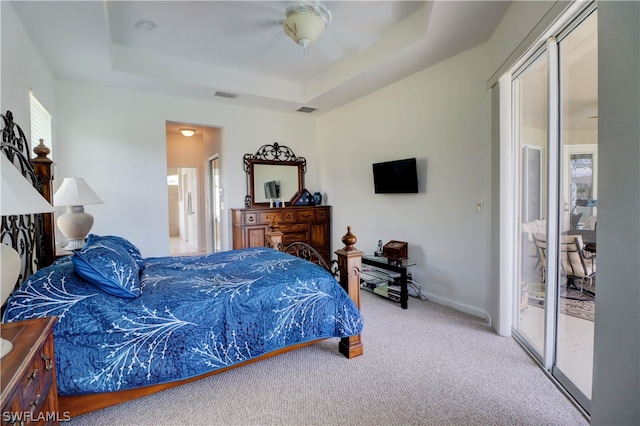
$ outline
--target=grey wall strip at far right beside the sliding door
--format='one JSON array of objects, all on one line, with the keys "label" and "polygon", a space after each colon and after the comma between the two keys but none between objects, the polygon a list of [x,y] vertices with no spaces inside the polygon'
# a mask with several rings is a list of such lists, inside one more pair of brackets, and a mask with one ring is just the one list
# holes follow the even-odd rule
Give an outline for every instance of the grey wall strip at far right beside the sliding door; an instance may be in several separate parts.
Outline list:
[{"label": "grey wall strip at far right beside the sliding door", "polygon": [[598,6],[593,425],[640,424],[640,3]]}]

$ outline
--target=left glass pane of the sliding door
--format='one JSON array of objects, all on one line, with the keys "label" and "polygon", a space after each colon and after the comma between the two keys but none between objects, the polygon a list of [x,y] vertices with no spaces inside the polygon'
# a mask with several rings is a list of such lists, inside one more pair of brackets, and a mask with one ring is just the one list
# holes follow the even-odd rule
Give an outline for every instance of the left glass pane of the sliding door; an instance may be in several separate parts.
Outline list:
[{"label": "left glass pane of the sliding door", "polygon": [[547,160],[545,153],[548,133],[547,99],[548,64],[541,54],[514,79],[516,111],[515,140],[520,158],[519,170],[519,262],[516,268],[515,294],[517,305],[514,323],[523,343],[539,358],[544,353],[545,331],[545,253],[544,235],[547,204]]}]

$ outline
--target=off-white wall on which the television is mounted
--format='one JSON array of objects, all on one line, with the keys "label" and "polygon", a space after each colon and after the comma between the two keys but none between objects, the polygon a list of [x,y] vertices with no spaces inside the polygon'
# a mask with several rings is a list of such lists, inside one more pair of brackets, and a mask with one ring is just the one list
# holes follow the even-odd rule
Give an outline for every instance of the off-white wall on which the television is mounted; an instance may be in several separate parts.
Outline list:
[{"label": "off-white wall on which the television is mounted", "polygon": [[[490,94],[486,45],[318,118],[333,241],[407,241],[414,279],[433,300],[489,316]],[[416,157],[418,194],[374,194],[372,163]],[[476,213],[476,202],[484,212]],[[411,302],[409,303],[409,305]],[[410,307],[409,307],[410,309]]]}]

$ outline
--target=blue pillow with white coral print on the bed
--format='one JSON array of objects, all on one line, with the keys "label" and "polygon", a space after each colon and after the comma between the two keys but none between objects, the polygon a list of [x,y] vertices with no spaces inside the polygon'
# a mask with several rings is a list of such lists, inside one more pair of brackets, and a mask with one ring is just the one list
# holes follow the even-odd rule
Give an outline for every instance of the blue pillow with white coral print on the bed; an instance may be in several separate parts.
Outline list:
[{"label": "blue pillow with white coral print on the bed", "polygon": [[71,260],[76,273],[101,290],[128,299],[140,296],[138,265],[120,244],[89,241]]}]

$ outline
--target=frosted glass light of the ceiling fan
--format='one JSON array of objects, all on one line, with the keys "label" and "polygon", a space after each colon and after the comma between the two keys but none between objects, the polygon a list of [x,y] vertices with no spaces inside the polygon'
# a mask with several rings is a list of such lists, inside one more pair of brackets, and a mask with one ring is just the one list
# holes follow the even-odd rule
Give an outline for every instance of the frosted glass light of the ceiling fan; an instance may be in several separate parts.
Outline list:
[{"label": "frosted glass light of the ceiling fan", "polygon": [[319,3],[299,2],[287,6],[282,28],[293,41],[304,48],[309,56],[309,45],[331,23],[331,12]]}]

